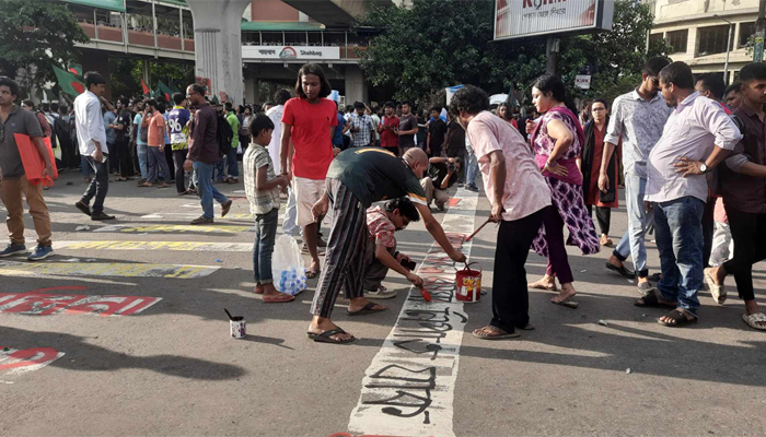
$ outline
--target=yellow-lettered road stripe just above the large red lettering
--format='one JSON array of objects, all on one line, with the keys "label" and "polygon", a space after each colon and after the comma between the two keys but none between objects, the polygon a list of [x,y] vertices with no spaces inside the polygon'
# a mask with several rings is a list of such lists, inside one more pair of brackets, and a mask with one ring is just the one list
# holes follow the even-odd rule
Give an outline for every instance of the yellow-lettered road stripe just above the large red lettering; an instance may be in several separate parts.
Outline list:
[{"label": "yellow-lettered road stripe just above the large red lettering", "polygon": [[30,276],[37,274],[71,276],[176,277],[197,279],[212,274],[218,267],[142,264],[117,262],[14,262],[0,261],[0,274]]}]

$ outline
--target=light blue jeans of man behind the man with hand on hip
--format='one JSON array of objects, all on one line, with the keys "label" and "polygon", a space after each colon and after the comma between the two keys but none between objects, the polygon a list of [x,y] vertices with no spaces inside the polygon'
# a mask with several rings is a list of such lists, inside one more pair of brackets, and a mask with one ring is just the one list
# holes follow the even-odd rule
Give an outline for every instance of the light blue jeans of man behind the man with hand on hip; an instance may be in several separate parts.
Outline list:
[{"label": "light blue jeans of man behind the man with hand on hip", "polygon": [[[616,180],[611,180],[610,182],[617,184]],[[636,175],[625,175],[625,203],[628,211],[628,229],[612,252],[620,261],[625,261],[631,256],[636,275],[639,277],[649,276],[645,238],[647,231],[654,223],[654,214],[651,212],[647,213],[643,205],[646,189],[647,179]]]}]

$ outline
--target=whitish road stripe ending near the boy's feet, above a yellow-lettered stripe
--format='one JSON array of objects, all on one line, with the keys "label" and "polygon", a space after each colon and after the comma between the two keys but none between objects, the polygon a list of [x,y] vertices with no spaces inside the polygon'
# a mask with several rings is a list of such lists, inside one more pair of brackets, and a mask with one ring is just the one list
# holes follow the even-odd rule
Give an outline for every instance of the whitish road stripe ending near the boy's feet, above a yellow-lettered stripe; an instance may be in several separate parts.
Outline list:
[{"label": "whitish road stripe ending near the boy's feet, above a yellow-lettered stripe", "polygon": [[206,241],[54,241],[54,249],[88,250],[178,250],[206,252],[249,252],[252,243],[206,243]]}]

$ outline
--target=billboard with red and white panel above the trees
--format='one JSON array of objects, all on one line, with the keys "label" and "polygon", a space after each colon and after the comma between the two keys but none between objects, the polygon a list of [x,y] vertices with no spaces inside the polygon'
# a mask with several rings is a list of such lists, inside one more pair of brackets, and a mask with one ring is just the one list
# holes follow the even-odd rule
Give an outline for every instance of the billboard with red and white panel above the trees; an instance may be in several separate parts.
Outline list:
[{"label": "billboard with red and white panel above the trees", "polygon": [[495,39],[612,29],[614,0],[496,0]]}]

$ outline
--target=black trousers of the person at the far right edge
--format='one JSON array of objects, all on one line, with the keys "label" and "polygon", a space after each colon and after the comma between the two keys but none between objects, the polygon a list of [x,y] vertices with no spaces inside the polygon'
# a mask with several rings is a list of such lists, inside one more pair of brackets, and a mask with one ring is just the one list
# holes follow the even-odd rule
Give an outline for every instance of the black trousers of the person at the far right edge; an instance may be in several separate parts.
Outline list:
[{"label": "black trousers of the person at the far right edge", "polygon": [[753,300],[753,264],[766,259],[766,214],[742,212],[729,205],[726,209],[734,257],[723,263],[723,270],[734,275],[742,300]]}]

